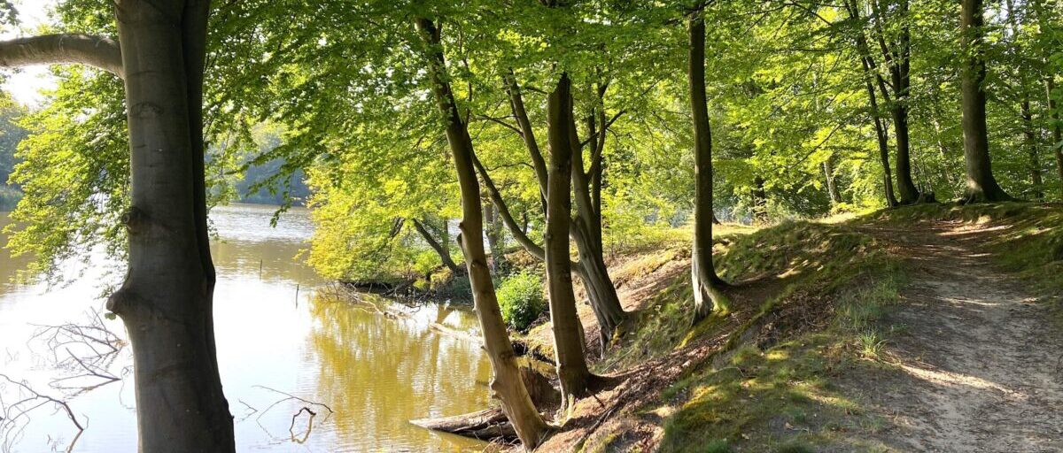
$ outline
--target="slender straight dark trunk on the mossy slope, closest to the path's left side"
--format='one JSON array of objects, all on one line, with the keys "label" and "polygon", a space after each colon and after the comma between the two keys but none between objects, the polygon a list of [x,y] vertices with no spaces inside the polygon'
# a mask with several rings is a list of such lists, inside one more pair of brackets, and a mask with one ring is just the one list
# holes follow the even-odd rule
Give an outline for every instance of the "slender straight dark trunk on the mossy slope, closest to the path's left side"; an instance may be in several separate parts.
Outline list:
[{"label": "slender straight dark trunk on the mossy slope, closest to the path's left side", "polygon": [[721,290],[723,280],[712,263],[712,130],[705,94],[705,16],[694,13],[688,24],[690,48],[687,77],[694,128],[694,245],[691,249],[691,285],[694,291],[694,324],[713,311],[730,310]]}]

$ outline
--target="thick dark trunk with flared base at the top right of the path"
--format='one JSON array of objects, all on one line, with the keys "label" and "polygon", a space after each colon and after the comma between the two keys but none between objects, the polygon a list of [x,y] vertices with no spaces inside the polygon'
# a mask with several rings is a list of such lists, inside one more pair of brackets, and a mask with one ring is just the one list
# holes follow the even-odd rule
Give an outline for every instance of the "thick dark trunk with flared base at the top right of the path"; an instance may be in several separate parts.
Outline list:
[{"label": "thick dark trunk with flared base at the top right of the path", "polygon": [[984,46],[982,42],[982,0],[962,0],[960,41],[964,55],[961,92],[963,98],[963,157],[966,161],[966,203],[1011,199],[993,177],[989,130],[985,125]]}]

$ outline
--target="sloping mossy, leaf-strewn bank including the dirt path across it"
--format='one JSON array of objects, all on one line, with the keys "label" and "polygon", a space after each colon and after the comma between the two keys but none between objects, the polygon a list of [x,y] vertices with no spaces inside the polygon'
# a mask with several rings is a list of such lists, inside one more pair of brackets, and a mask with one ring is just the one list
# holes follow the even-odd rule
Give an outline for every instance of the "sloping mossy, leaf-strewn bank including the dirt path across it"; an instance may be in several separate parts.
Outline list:
[{"label": "sloping mossy, leaf-strewn bank including the dirt path across it", "polygon": [[[924,207],[726,236],[742,309],[693,329],[681,244],[618,260],[640,327],[540,451],[1061,451],[1061,219]],[[526,341],[551,355],[549,326]]]}]

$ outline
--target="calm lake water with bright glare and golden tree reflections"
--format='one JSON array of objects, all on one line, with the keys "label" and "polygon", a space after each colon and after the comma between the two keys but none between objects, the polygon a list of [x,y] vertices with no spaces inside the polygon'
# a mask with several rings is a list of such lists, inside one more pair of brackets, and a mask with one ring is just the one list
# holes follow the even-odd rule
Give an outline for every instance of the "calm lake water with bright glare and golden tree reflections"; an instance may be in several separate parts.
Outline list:
[{"label": "calm lake water with bright glare and golden tree reflections", "polygon": [[[432,433],[410,425],[414,418],[456,415],[488,404],[490,364],[469,339],[438,334],[439,323],[476,328],[468,311],[428,306],[408,318],[391,319],[327,297],[327,283],[298,260],[313,232],[305,210],[293,209],[270,228],[273,208],[234,205],[216,208],[212,222],[218,268],[215,323],[221,380],[236,420],[238,451],[478,451],[475,440]],[[0,213],[0,228],[7,223]],[[0,236],[0,242],[6,238]],[[72,283],[48,288],[13,282],[26,259],[0,250],[0,373],[29,382],[35,390],[61,396],[50,386],[75,374],[54,367],[40,326],[87,324],[102,311],[108,286],[121,281],[120,262],[94,256],[88,263],[65,263]],[[103,320],[124,336],[120,320]],[[58,356],[64,358],[64,348]],[[119,352],[107,369],[121,374],[131,365]],[[92,385],[98,379],[57,385]],[[274,390],[327,404],[292,416],[307,405]],[[23,393],[24,394],[24,393]],[[18,401],[20,391],[0,384],[0,399]],[[272,404],[281,401],[276,405]],[[87,425],[74,452],[135,452],[136,415],[132,377],[69,400]],[[77,429],[51,405],[31,413],[20,429],[0,431],[0,451],[67,451]]]}]

